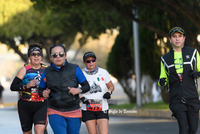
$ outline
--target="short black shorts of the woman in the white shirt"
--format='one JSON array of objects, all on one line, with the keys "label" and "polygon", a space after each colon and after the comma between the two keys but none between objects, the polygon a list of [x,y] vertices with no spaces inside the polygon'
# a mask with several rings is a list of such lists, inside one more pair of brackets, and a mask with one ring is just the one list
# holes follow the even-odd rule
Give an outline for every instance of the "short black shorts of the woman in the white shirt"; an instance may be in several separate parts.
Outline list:
[{"label": "short black shorts of the woman in the white shirt", "polygon": [[86,122],[88,120],[98,120],[98,119],[108,119],[108,110],[105,111],[85,111],[82,110],[82,121]]}]

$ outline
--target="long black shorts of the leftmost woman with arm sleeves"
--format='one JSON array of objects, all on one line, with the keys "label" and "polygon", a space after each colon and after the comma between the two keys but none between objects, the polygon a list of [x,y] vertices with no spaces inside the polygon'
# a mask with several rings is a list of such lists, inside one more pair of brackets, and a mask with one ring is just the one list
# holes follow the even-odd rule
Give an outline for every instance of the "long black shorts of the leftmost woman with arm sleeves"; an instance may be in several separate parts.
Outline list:
[{"label": "long black shorts of the leftmost woman with arm sleeves", "polygon": [[20,99],[18,101],[18,114],[23,132],[30,131],[33,124],[45,125],[47,121],[47,101],[31,102]]}]

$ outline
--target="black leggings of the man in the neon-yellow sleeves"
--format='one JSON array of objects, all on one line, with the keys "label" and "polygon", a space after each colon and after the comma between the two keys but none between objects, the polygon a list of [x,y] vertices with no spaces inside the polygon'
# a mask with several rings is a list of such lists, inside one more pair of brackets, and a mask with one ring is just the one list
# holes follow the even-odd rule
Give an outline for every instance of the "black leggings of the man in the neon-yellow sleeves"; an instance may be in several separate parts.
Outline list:
[{"label": "black leggings of the man in the neon-yellow sleeves", "polygon": [[198,129],[199,112],[180,108],[174,114],[179,125],[179,134],[196,134]]}]

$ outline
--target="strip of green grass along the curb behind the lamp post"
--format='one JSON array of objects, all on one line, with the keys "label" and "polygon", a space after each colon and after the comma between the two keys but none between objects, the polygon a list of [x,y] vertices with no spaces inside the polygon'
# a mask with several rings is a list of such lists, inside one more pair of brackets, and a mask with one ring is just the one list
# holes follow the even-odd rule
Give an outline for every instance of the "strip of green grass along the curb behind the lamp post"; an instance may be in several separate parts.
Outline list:
[{"label": "strip of green grass along the curb behind the lamp post", "polygon": [[[121,105],[110,105],[110,109],[133,109],[136,104],[121,104]],[[141,109],[169,109],[169,105],[165,104],[163,101],[144,104]]]}]

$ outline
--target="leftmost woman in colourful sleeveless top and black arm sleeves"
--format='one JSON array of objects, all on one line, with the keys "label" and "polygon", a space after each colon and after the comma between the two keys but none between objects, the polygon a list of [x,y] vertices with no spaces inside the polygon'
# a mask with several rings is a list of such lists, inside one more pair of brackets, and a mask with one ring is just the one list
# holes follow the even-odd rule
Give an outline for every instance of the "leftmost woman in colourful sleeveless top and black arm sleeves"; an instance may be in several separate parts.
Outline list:
[{"label": "leftmost woman in colourful sleeveless top and black arm sleeves", "polygon": [[42,64],[42,45],[30,44],[28,48],[29,63],[17,73],[11,84],[12,91],[20,91],[18,114],[23,134],[43,134],[47,125],[47,101],[38,95],[38,87],[42,72],[46,65]]}]

